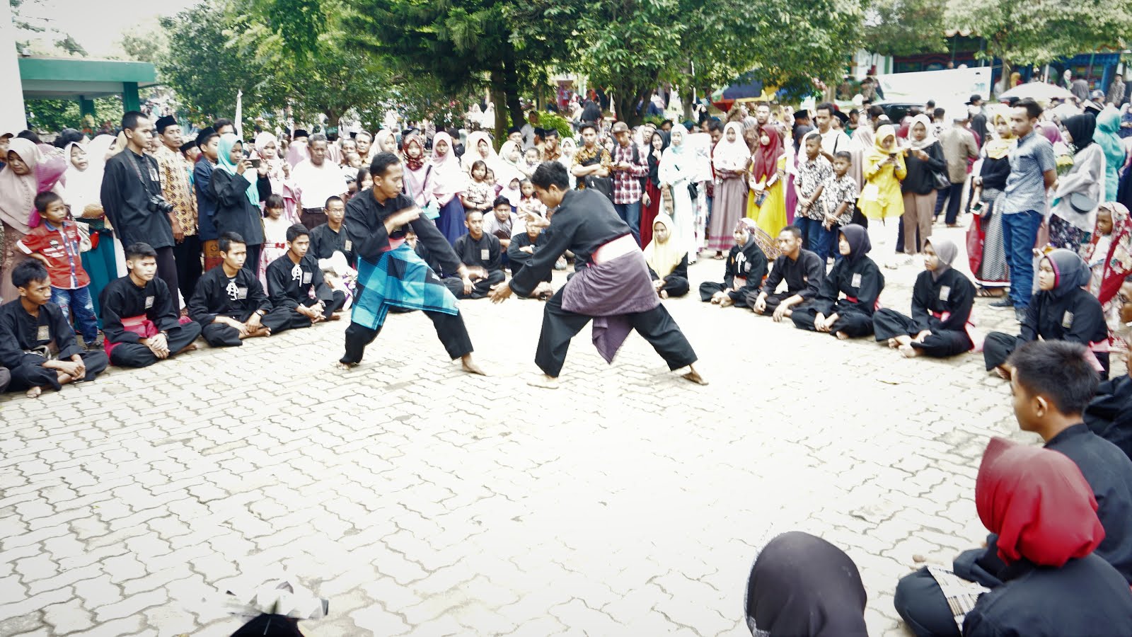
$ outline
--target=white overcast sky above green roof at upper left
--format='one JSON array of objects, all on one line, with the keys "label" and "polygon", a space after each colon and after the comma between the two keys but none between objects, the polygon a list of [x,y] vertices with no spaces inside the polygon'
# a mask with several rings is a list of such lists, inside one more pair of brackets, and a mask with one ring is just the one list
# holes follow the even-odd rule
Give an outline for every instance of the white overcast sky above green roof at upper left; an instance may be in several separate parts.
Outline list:
[{"label": "white overcast sky above green roof at upper left", "polygon": [[[23,14],[48,18],[51,25],[69,33],[93,58],[115,52],[114,42],[122,32],[137,25],[156,25],[157,16],[169,16],[199,0],[27,0]],[[28,20],[35,22],[35,20]]]}]

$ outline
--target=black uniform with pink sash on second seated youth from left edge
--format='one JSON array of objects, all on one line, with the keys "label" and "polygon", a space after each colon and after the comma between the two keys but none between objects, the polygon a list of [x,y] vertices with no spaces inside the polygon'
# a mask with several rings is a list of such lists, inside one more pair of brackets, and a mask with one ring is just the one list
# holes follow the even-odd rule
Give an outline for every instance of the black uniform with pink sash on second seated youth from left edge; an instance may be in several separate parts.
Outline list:
[{"label": "black uniform with pink sash on second seated youth from left edge", "polygon": [[154,278],[138,287],[129,274],[111,281],[98,297],[102,303],[102,332],[106,341],[114,345],[110,350],[110,363],[121,367],[148,367],[161,360],[137,333],[122,325],[123,320],[144,316],[154,326],[165,332],[169,358],[197,340],[200,324],[189,321],[181,323],[173,306],[165,281]]}]

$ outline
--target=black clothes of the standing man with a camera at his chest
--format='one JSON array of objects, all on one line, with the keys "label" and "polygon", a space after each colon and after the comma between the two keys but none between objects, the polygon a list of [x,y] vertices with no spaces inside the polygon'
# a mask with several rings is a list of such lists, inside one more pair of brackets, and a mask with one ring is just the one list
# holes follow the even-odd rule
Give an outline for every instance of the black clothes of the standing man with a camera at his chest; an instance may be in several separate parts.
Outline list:
[{"label": "black clothes of the standing man with a camera at his chest", "polygon": [[[122,240],[122,247],[140,241],[156,250],[157,277],[175,295],[179,288],[173,224],[169,214],[149,210],[149,198],[154,196],[162,196],[162,192],[161,173],[153,155],[138,155],[126,148],[106,160],[101,189],[106,219]],[[173,305],[180,307],[177,298]]]}]

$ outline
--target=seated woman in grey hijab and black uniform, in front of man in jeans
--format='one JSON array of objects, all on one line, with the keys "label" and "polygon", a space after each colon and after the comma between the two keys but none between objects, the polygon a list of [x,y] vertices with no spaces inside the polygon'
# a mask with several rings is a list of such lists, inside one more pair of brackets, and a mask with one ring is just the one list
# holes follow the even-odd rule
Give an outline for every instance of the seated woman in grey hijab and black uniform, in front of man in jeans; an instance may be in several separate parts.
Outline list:
[{"label": "seated woman in grey hijab and black uniform, in front of man in jeans", "polygon": [[[1100,301],[1082,286],[1092,273],[1083,258],[1073,250],[1058,248],[1038,262],[1038,291],[1026,308],[1026,320],[1015,337],[990,332],[983,345],[987,371],[1010,377],[1010,358],[1014,348],[1038,340],[1078,342],[1088,348],[1101,379],[1108,377],[1108,326]],[[1091,348],[1097,348],[1092,350]],[[1104,350],[1104,351],[1101,351]]]}]

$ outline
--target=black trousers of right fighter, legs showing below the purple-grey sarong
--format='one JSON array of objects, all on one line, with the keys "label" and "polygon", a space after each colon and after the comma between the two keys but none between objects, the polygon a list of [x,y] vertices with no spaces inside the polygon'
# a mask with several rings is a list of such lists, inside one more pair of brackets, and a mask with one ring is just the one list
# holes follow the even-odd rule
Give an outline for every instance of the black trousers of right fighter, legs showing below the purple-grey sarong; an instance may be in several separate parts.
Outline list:
[{"label": "black trousers of right fighter, legs showing below the purple-grey sarong", "polygon": [[[593,317],[563,308],[563,291],[558,290],[542,311],[542,332],[534,353],[534,364],[548,376],[558,377],[566,363],[569,341]],[[657,305],[646,312],[628,315],[633,329],[668,363],[669,370],[687,367],[696,362],[696,353],[679,325],[664,308]]]}]

